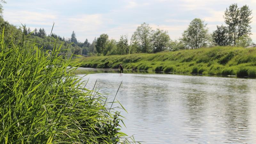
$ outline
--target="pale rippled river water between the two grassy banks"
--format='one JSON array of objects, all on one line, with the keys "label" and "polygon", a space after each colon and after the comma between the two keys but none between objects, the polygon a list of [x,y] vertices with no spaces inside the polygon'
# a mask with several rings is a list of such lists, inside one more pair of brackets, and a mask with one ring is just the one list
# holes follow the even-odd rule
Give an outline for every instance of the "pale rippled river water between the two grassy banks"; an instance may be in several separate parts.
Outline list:
[{"label": "pale rippled river water between the two grassy banks", "polygon": [[[79,75],[84,76],[84,75]],[[87,88],[126,108],[122,132],[145,144],[256,143],[256,79],[97,73]]]}]

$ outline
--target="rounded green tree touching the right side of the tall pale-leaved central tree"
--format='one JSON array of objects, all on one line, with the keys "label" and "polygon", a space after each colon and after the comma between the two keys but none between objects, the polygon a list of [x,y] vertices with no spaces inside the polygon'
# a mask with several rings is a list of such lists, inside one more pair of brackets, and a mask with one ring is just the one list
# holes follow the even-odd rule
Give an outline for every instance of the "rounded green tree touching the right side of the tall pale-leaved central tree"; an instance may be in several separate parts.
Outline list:
[{"label": "rounded green tree touching the right side of the tall pale-leaved central tree", "polygon": [[153,51],[164,51],[170,44],[170,40],[171,39],[167,31],[160,30],[159,28],[157,28],[153,34]]}]

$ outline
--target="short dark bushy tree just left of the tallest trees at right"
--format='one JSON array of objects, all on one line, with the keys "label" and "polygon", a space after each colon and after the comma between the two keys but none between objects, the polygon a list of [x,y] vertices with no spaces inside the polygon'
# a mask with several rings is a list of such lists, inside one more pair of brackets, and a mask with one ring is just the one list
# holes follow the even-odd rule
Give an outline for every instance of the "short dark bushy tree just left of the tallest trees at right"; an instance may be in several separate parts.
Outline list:
[{"label": "short dark bushy tree just left of the tallest trees at right", "polygon": [[215,44],[220,46],[229,45],[230,41],[228,38],[228,28],[221,25],[217,26],[217,30],[212,33],[212,38]]}]

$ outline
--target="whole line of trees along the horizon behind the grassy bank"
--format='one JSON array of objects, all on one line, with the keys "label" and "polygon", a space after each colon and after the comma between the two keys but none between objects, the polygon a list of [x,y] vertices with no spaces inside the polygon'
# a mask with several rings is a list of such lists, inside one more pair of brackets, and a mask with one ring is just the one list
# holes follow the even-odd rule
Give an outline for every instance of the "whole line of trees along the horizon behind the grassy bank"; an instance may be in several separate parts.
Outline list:
[{"label": "whole line of trees along the horizon behind the grassy bank", "polygon": [[[0,7],[1,8],[1,7]],[[0,9],[1,10],[1,9]],[[1,12],[1,11],[0,11]],[[231,4],[224,12],[223,18],[225,25],[217,26],[212,33],[209,32],[204,20],[195,18],[190,22],[188,28],[182,33],[181,38],[172,40],[168,31],[163,29],[153,29],[147,23],[142,23],[136,28],[130,39],[122,35],[120,39],[109,39],[108,34],[101,34],[94,38],[92,43],[85,39],[79,42],[76,33],[73,31],[70,38],[64,38],[57,34],[50,37],[62,41],[64,45],[70,44],[72,53],[77,55],[124,55],[130,53],[156,53],[162,51],[177,51],[181,49],[197,49],[200,47],[212,47],[215,45],[241,46],[246,47],[252,44],[251,26],[252,10],[249,6],[238,7]],[[4,24],[0,23],[3,27]],[[25,29],[25,34],[45,38],[44,28],[39,31],[30,28]]]}]

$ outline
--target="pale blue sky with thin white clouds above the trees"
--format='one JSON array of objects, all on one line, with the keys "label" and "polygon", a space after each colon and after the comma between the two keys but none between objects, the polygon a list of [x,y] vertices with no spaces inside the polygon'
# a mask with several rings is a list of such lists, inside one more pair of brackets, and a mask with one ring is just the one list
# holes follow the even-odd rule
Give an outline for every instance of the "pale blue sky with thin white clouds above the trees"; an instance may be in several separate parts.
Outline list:
[{"label": "pale blue sky with thin white clouds above the trees", "polygon": [[252,10],[252,41],[256,43],[256,0],[5,0],[4,20],[15,26],[26,24],[31,29],[44,28],[70,38],[89,42],[108,34],[119,40],[121,35],[132,37],[140,24],[167,30],[172,40],[179,39],[189,23],[200,18],[209,32],[225,24],[223,14],[230,4],[248,5]]}]

